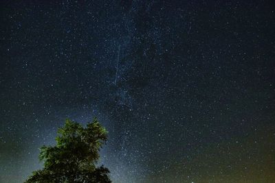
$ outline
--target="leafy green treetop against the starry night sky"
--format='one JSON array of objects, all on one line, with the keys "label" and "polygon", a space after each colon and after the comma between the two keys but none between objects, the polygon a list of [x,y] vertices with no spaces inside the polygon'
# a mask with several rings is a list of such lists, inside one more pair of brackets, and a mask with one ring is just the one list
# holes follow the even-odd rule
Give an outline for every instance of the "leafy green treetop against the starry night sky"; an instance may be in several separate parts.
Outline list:
[{"label": "leafy green treetop against the starry night sky", "polygon": [[34,171],[25,183],[111,182],[109,169],[96,166],[106,141],[107,131],[96,118],[87,127],[66,119],[58,129],[56,146],[41,147],[39,160],[44,168]]}]

